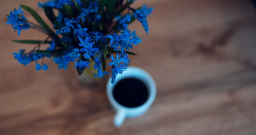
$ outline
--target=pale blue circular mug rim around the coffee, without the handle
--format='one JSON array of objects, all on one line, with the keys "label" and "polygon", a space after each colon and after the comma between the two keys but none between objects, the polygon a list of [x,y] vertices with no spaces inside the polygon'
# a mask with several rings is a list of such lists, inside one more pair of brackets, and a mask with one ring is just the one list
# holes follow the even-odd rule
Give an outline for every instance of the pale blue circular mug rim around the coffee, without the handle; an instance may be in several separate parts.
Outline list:
[{"label": "pale blue circular mug rim around the coffee, without the handle", "polygon": [[[136,72],[138,74],[134,75]],[[130,73],[132,73],[132,74],[130,74]],[[141,79],[138,76],[141,76],[141,78],[143,77],[146,79]],[[138,107],[125,107],[125,106],[119,104],[119,102],[117,102],[115,100],[115,98],[112,94],[113,88],[115,87],[117,82],[122,80],[123,78],[129,78],[129,77],[139,79],[148,88],[148,93],[149,93],[148,99],[146,100],[146,102],[144,102],[142,105],[139,105]],[[108,83],[107,83],[107,95],[108,95],[108,99],[110,100],[112,106],[116,109],[116,111],[118,111],[120,109],[123,109],[125,111],[136,111],[136,110],[140,111],[140,110],[147,109],[148,107],[150,107],[150,105],[155,100],[156,85],[155,85],[155,81],[150,76],[150,74],[148,74],[148,72],[146,72],[145,70],[142,70],[141,68],[129,67],[126,69],[126,71],[123,72],[123,74],[117,75],[117,78],[116,78],[116,81],[114,84],[111,84],[111,77],[109,78]]]}]

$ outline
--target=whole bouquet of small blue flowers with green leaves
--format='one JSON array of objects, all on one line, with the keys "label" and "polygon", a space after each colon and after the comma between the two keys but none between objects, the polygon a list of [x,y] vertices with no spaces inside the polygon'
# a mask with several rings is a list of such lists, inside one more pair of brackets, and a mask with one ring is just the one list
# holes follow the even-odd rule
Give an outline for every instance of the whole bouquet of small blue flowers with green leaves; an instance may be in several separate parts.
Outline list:
[{"label": "whole bouquet of small blue flowers with green leaves", "polygon": [[[136,55],[129,49],[141,42],[135,31],[128,30],[128,25],[134,20],[141,22],[148,33],[147,16],[153,8],[146,5],[132,8],[135,0],[52,0],[38,3],[45,12],[52,28],[30,7],[20,5],[7,15],[7,23],[14,31],[34,28],[47,35],[43,40],[13,40],[17,43],[35,44],[30,50],[24,49],[14,52],[19,63],[27,65],[36,62],[36,70],[47,70],[43,62],[45,57],[52,58],[58,68],[66,70],[68,63],[75,62],[74,68],[80,76],[89,63],[94,61],[95,77],[103,78],[106,65],[112,66],[111,78],[115,82],[117,74],[128,68],[128,55]],[[28,11],[38,22],[29,22],[21,9]],[[57,15],[55,15],[57,14]],[[48,44],[42,50],[40,46]],[[40,60],[41,59],[41,60]],[[39,60],[41,63],[39,63]],[[106,64],[108,62],[108,64]]]}]

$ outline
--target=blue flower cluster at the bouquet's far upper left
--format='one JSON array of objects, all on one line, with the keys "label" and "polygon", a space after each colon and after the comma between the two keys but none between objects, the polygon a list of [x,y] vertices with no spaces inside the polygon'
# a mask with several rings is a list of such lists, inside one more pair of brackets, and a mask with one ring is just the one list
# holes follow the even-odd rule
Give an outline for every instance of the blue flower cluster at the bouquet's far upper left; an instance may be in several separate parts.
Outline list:
[{"label": "blue flower cluster at the bouquet's far upper left", "polygon": [[14,31],[18,30],[18,35],[20,35],[21,30],[27,30],[30,28],[27,19],[24,15],[21,15],[20,13],[24,13],[23,11],[21,11],[21,7],[19,8],[19,10],[15,8],[13,9],[13,11],[10,11],[10,15],[7,15],[6,23],[11,24]]}]

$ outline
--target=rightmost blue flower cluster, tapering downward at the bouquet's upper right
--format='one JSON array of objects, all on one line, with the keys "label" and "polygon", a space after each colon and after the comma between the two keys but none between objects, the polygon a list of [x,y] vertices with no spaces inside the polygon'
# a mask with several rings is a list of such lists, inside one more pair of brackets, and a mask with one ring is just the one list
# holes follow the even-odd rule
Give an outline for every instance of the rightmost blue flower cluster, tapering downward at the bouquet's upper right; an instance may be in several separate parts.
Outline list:
[{"label": "rightmost blue flower cluster, tapering downward at the bouquet's upper right", "polygon": [[141,22],[143,28],[145,29],[146,33],[148,33],[148,21],[146,20],[147,16],[153,11],[153,8],[148,8],[144,5],[141,9],[136,9],[133,16]]}]

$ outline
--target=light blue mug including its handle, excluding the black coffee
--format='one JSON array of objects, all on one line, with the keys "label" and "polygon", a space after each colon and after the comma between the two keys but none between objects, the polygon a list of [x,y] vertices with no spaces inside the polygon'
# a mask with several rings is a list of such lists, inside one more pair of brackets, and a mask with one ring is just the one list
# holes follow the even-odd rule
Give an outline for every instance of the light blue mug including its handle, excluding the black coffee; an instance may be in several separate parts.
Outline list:
[{"label": "light blue mug including its handle, excluding the black coffee", "polygon": [[[113,96],[113,89],[115,85],[122,79],[125,78],[136,78],[142,81],[148,89],[148,99],[144,104],[138,107],[125,107],[120,105]],[[132,85],[132,84],[131,84]],[[123,124],[125,118],[135,118],[143,115],[148,111],[149,107],[152,105],[156,96],[156,85],[153,78],[144,70],[136,67],[129,67],[123,74],[118,74],[114,84],[111,84],[111,78],[108,80],[107,84],[107,95],[112,105],[112,108],[116,111],[114,118],[114,125],[119,127]]]}]

